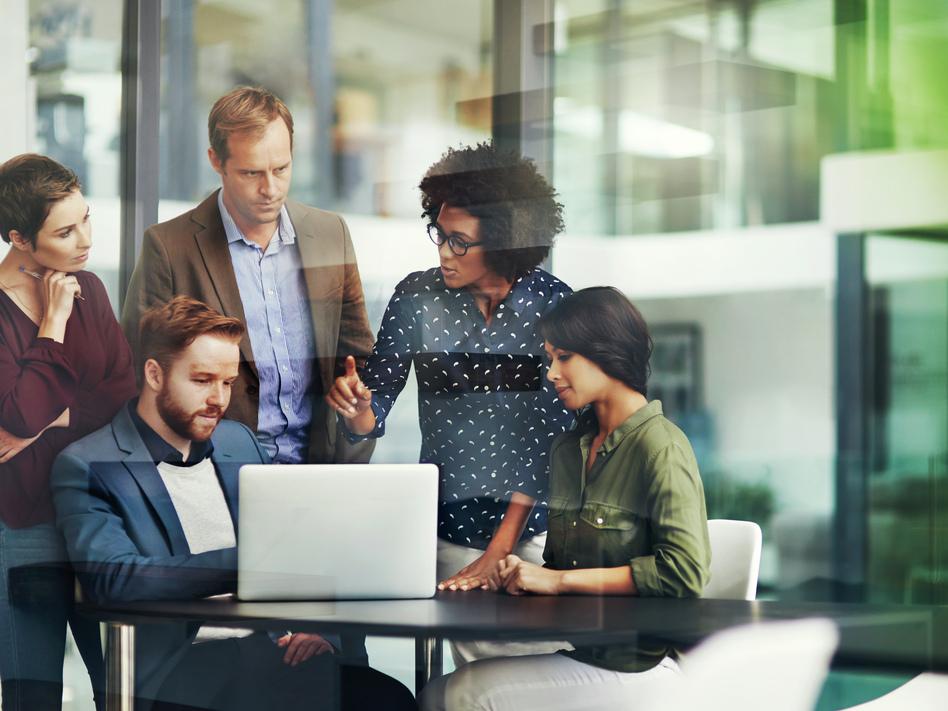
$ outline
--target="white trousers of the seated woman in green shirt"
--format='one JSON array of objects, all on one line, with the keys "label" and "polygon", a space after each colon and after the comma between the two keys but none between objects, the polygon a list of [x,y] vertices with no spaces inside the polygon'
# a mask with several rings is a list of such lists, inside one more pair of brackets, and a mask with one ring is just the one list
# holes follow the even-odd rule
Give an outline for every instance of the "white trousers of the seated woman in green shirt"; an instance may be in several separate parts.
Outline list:
[{"label": "white trousers of the seated woman in green shirt", "polygon": [[420,704],[422,711],[651,711],[636,701],[661,700],[663,689],[680,682],[670,657],[648,671],[624,673],[542,654],[465,664],[428,684]]}]

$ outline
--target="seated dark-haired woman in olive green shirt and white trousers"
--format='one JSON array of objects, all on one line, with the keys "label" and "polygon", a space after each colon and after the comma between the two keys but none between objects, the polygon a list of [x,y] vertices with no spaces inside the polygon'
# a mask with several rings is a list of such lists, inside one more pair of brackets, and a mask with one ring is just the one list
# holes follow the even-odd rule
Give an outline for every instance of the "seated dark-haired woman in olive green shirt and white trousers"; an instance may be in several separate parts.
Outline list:
[{"label": "seated dark-haired woman in olive green shirt and white trousers", "polygon": [[[651,338],[638,310],[609,287],[583,289],[544,316],[547,377],[578,426],[553,443],[543,566],[507,556],[511,595],[697,597],[708,580],[704,490],[687,437],[646,398]],[[487,659],[426,688],[427,709],[637,708],[645,686],[674,683],[675,651],[577,647]]]}]

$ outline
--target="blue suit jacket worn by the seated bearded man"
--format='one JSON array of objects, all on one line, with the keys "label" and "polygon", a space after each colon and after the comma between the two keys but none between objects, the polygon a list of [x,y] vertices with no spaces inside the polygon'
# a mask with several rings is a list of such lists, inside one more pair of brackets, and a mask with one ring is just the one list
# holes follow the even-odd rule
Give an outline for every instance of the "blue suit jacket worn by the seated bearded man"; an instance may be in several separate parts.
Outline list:
[{"label": "blue suit jacket worn by the seated bearded man", "polygon": [[[237,472],[268,461],[244,425],[222,420],[211,457],[237,527]],[[51,475],[56,521],[93,602],[187,600],[236,591],[237,549],[192,554],[161,475],[123,407],[60,453]],[[198,625],[138,628],[135,686],[153,699]]]}]

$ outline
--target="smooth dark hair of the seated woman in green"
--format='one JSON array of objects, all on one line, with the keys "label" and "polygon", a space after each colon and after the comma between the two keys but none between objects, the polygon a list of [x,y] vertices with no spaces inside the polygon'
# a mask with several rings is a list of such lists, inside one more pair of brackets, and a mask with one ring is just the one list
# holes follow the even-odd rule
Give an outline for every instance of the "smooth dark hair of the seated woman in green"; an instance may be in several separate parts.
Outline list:
[{"label": "smooth dark hair of the seated woman in green", "polygon": [[579,353],[609,377],[647,396],[652,337],[639,310],[611,286],[570,294],[540,319],[550,345]]}]

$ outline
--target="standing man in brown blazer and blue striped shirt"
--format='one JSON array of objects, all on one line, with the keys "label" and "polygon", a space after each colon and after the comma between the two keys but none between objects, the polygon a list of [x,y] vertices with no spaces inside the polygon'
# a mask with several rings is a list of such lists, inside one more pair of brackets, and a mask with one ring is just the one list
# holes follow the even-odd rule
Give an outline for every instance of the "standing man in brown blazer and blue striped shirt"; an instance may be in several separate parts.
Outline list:
[{"label": "standing man in brown blazer and blue striped shirt", "polygon": [[247,324],[229,418],[278,462],[368,461],[372,446],[337,436],[321,397],[341,359],[373,345],[348,228],[287,199],[293,119],[273,94],[231,91],[211,110],[208,133],[221,189],[146,230],[122,313],[132,350],[140,356],[146,309],[181,294],[199,299]]}]

